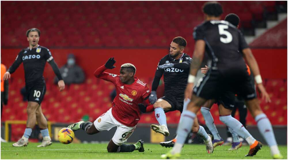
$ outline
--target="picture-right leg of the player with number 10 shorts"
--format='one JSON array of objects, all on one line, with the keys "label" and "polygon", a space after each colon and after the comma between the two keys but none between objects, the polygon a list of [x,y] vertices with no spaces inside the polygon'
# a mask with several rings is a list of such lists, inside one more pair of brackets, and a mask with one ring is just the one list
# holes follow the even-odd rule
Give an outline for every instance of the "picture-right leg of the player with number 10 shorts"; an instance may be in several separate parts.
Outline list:
[{"label": "picture-right leg of the player with number 10 shorts", "polygon": [[52,141],[51,141],[51,138],[49,136],[49,131],[48,131],[48,127],[47,127],[47,120],[42,113],[41,105],[36,110],[36,120],[37,120],[38,126],[40,128],[40,132],[43,136],[43,141],[42,141],[41,145],[39,145],[37,147],[46,147],[46,146],[51,145]]}]

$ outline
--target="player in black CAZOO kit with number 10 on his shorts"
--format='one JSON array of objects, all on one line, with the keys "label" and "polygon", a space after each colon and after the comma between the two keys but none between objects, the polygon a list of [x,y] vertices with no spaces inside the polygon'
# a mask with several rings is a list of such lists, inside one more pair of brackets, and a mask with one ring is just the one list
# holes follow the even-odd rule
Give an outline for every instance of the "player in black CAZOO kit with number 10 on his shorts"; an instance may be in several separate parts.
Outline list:
[{"label": "player in black CAZOO kit with number 10 on his shorts", "polygon": [[37,121],[39,128],[41,128],[40,132],[43,136],[41,145],[38,145],[37,147],[46,147],[52,144],[47,128],[47,120],[44,117],[41,109],[41,102],[46,93],[46,83],[43,77],[46,62],[51,65],[55,75],[60,80],[58,82],[60,91],[65,88],[65,83],[50,50],[38,44],[40,30],[37,28],[31,28],[26,32],[26,36],[27,41],[29,42],[29,47],[22,49],[19,52],[15,62],[4,74],[4,80],[9,79],[11,74],[14,73],[19,65],[23,62],[25,87],[28,95],[28,119],[24,135],[18,142],[14,143],[13,146],[22,147],[28,145],[28,139],[31,136],[32,128],[34,128]]}]

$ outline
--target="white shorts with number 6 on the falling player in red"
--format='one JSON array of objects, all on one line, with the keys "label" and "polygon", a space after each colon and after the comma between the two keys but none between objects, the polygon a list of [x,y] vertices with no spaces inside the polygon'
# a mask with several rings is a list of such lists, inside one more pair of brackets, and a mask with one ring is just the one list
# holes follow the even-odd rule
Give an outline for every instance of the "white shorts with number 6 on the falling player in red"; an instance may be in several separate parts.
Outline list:
[{"label": "white shorts with number 6 on the falling player in red", "polygon": [[113,117],[111,110],[112,108],[98,117],[94,121],[94,126],[98,131],[110,130],[111,128],[117,126],[117,130],[112,138],[112,141],[115,143],[115,145],[121,146],[132,135],[136,126],[128,127],[121,124]]}]

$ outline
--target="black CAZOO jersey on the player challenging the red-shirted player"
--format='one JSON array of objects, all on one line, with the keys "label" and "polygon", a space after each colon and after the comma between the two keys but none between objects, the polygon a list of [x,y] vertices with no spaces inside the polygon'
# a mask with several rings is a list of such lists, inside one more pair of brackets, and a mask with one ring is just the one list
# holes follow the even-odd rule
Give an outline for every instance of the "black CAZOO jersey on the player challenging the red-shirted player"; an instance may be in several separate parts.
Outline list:
[{"label": "black CAZOO jersey on the player challenging the red-shirted player", "polygon": [[[185,69],[180,69],[177,67],[158,69],[164,75],[164,85],[165,91],[164,95],[172,95],[179,98],[184,98],[184,92],[187,85],[187,79],[190,71],[192,58],[183,53],[181,58],[173,59],[170,55],[164,56],[158,66],[163,65],[165,63],[186,63],[187,67]],[[162,76],[162,75],[161,75]]]}]

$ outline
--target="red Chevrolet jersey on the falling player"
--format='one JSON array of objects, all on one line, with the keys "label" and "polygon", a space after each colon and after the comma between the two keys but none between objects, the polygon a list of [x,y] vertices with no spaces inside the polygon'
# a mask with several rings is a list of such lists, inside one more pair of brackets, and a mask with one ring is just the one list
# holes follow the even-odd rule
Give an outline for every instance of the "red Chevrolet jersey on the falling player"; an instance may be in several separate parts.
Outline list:
[{"label": "red Chevrolet jersey on the falling player", "polygon": [[120,81],[119,75],[104,72],[107,68],[99,67],[94,75],[97,78],[112,82],[116,87],[116,97],[112,102],[113,117],[125,126],[133,127],[140,119],[139,103],[150,95],[146,83],[134,77],[134,83],[128,85]]}]

